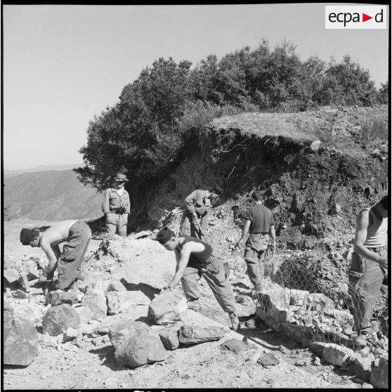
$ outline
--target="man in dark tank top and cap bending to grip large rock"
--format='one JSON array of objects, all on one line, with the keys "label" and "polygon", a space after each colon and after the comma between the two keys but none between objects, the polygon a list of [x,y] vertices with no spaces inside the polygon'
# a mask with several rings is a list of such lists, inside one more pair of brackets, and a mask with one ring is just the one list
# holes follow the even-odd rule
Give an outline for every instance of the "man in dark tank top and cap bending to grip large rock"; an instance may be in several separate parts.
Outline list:
[{"label": "man in dark tank top and cap bending to grip large rock", "polygon": [[200,297],[197,280],[204,277],[219,305],[228,313],[232,329],[237,331],[240,320],[235,315],[233,289],[221,257],[213,251],[211,245],[189,235],[177,236],[167,227],[159,230],[155,240],[176,254],[176,273],[167,289],[173,290],[181,280],[188,306],[191,308],[192,302]]}]

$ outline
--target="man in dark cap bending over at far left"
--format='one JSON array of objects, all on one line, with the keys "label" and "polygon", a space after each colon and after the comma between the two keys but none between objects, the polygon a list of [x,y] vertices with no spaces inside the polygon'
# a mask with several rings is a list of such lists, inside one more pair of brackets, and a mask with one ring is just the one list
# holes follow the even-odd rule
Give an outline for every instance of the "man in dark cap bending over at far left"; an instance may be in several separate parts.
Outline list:
[{"label": "man in dark cap bending over at far left", "polygon": [[[81,221],[63,221],[48,228],[44,233],[36,229],[23,228],[20,242],[31,247],[41,247],[48,257],[48,266],[39,276],[39,282],[46,282],[53,277],[55,268],[58,281],[55,289],[65,290],[80,275],[80,265],[91,240],[89,226]],[[58,247],[65,242],[63,252]]]}]

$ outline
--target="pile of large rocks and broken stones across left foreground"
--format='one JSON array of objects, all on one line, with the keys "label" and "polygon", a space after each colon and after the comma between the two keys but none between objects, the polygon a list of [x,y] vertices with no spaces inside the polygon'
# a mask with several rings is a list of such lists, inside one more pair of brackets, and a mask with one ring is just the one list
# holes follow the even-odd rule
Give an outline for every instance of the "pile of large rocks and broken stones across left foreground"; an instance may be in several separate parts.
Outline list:
[{"label": "pile of large rocks and broken stones across left foreground", "polygon": [[[122,282],[79,283],[67,292],[48,292],[39,300],[25,294],[25,298],[14,298],[14,308],[7,304],[4,310],[6,365],[29,365],[39,354],[39,346],[78,351],[110,342],[116,362],[134,368],[165,360],[167,351],[180,346],[216,341],[228,332],[226,327],[184,323],[188,306],[181,292],[164,290],[155,296],[148,306],[147,322],[123,318],[110,327],[107,316],[126,313],[134,305],[135,293],[127,291]],[[249,346],[238,339],[224,344],[223,349],[234,352]]]}]

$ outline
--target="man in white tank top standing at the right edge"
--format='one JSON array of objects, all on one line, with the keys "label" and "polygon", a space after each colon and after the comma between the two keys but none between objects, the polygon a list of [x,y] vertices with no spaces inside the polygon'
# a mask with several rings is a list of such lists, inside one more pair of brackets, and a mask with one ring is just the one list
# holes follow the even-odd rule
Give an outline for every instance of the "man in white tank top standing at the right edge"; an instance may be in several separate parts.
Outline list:
[{"label": "man in white tank top standing at the right edge", "polygon": [[373,207],[362,209],[356,221],[354,251],[348,272],[354,329],[358,334],[354,339],[356,346],[366,346],[374,303],[380,289],[384,288],[383,282],[387,285],[389,204],[386,195]]}]

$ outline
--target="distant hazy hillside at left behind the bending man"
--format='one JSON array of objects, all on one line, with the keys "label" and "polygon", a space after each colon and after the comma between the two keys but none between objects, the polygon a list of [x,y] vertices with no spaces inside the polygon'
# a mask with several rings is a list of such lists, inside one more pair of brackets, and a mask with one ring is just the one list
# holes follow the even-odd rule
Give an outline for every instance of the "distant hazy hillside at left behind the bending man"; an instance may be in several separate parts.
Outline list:
[{"label": "distant hazy hillside at left behind the bending man", "polygon": [[60,221],[70,218],[98,218],[101,197],[84,186],[71,170],[39,171],[4,178],[4,207],[8,216]]}]

